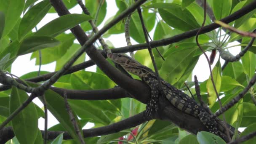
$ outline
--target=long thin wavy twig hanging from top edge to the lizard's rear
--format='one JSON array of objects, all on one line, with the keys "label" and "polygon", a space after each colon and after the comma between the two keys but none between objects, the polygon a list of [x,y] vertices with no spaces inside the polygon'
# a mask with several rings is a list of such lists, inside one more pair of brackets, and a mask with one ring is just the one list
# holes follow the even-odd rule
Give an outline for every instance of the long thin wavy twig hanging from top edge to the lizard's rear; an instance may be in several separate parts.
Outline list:
[{"label": "long thin wavy twig hanging from top edge to the lizard's rear", "polygon": [[[222,104],[221,104],[221,101],[220,101],[220,98],[219,98],[219,93],[216,89],[216,86],[215,86],[215,83],[214,83],[214,80],[213,80],[213,74],[212,74],[212,70],[211,70],[211,64],[210,64],[210,61],[208,59],[208,56],[206,55],[205,51],[203,50],[203,48],[200,46],[199,42],[198,42],[198,36],[199,36],[199,33],[201,31],[201,29],[203,28],[204,24],[205,24],[205,20],[206,20],[206,0],[204,0],[204,19],[203,19],[203,24],[202,26],[200,27],[200,29],[198,30],[197,32],[197,35],[196,35],[196,42],[197,42],[197,45],[198,47],[200,48],[200,50],[203,52],[205,58],[207,59],[207,62],[208,62],[208,66],[209,66],[209,69],[210,69],[210,75],[211,75],[211,82],[213,84],[213,88],[214,88],[214,91],[216,93],[216,96],[217,96],[217,99],[219,101],[219,105],[220,107],[222,108]],[[226,123],[226,118],[225,118],[225,115],[223,115],[223,120],[224,120],[224,123]],[[225,129],[226,129],[226,133],[227,133],[227,137],[229,139],[229,141],[231,141],[231,138],[230,138],[230,134],[229,134],[229,129],[227,128],[227,125],[225,124]]]}]

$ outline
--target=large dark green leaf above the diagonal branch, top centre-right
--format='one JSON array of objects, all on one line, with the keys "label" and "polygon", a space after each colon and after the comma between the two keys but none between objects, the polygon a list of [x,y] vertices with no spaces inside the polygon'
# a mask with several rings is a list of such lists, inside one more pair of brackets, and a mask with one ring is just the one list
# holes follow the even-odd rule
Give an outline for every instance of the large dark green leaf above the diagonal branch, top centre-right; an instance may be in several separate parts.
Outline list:
[{"label": "large dark green leaf above the diagonal branch, top centre-right", "polygon": [[188,31],[200,27],[194,16],[187,10],[182,11],[181,6],[173,3],[155,3],[147,8],[158,8],[163,20],[176,29]]}]

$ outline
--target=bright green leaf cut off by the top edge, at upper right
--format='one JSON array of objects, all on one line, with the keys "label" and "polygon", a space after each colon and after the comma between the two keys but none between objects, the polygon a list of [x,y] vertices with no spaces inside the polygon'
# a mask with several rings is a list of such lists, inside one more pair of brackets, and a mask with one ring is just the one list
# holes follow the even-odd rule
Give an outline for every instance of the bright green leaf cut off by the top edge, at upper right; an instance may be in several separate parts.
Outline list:
[{"label": "bright green leaf cut off by the top edge, at upper right", "polygon": [[232,7],[232,0],[214,0],[213,13],[216,20],[229,16]]}]

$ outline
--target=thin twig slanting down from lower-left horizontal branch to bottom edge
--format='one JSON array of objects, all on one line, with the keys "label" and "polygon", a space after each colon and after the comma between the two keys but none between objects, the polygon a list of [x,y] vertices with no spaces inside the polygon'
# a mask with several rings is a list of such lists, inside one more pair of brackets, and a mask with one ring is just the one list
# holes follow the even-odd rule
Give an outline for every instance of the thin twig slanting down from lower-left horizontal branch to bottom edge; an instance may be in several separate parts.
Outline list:
[{"label": "thin twig slanting down from lower-left horizontal branch to bottom edge", "polygon": [[64,91],[64,101],[65,101],[65,106],[66,106],[66,109],[67,109],[67,112],[69,114],[69,118],[71,120],[71,123],[73,124],[74,128],[75,128],[75,132],[77,133],[77,136],[79,137],[79,140],[80,140],[80,143],[81,144],[85,144],[85,141],[83,139],[83,136],[81,134],[81,131],[80,131],[80,128],[79,126],[77,125],[77,121],[75,120],[75,116],[69,106],[69,103],[67,101],[67,92]]}]

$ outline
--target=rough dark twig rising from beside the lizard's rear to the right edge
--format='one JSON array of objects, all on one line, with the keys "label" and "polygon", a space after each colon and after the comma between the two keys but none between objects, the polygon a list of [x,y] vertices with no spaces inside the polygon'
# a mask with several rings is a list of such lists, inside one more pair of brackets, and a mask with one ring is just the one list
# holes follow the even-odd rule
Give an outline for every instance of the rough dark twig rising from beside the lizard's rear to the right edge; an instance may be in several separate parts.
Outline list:
[{"label": "rough dark twig rising from beside the lizard's rear to the right edge", "polygon": [[218,117],[222,113],[226,112],[230,107],[233,107],[240,99],[245,96],[245,94],[248,92],[248,90],[254,85],[256,82],[256,74],[253,76],[253,78],[250,80],[249,84],[247,87],[244,88],[244,90],[238,94],[234,99],[232,99],[228,104],[226,104],[224,107],[219,109],[218,112],[216,112],[212,117]]}]

